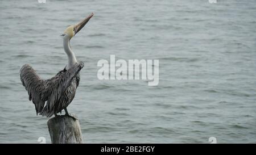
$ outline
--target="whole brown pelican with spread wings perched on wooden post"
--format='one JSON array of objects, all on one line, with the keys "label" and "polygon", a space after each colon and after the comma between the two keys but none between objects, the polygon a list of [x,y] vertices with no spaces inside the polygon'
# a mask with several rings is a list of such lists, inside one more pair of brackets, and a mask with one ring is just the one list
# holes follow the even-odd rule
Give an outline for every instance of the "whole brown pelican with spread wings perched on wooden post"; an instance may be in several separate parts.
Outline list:
[{"label": "whole brown pelican with spread wings perched on wooden post", "polygon": [[75,97],[80,81],[79,72],[84,67],[83,62],[77,62],[69,40],[85,26],[93,15],[93,13],[90,14],[81,22],[69,26],[64,31],[63,46],[68,56],[68,64],[55,77],[42,79],[28,64],[23,65],[20,69],[20,80],[28,91],[28,99],[35,104],[36,115],[50,117],[54,114],[56,116],[64,109],[65,115],[69,116],[67,106]]}]

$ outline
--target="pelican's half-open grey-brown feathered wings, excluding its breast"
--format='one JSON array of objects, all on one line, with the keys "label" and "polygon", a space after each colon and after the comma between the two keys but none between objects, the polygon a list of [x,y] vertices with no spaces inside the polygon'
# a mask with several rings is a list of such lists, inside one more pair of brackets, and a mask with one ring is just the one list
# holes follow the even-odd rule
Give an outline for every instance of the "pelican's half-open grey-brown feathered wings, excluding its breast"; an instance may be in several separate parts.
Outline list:
[{"label": "pelican's half-open grey-brown feathered wings, excluding its breast", "polygon": [[67,71],[59,72],[55,77],[45,80],[40,78],[30,65],[23,65],[20,69],[20,80],[28,91],[29,99],[35,104],[36,114],[48,117],[53,115],[55,103],[58,103],[65,89],[83,67],[83,62],[76,63]]}]

